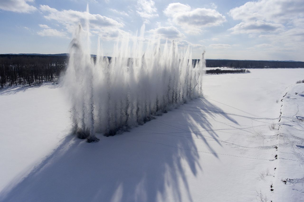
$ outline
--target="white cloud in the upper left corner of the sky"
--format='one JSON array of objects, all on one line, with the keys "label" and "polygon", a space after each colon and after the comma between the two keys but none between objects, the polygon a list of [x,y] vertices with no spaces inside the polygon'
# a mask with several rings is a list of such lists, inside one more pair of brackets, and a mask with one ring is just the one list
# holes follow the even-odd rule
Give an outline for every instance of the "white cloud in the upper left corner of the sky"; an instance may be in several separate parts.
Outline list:
[{"label": "white cloud in the upper left corner of the sky", "polygon": [[37,10],[35,6],[27,2],[34,2],[34,0],[1,0],[0,9],[18,13],[30,13]]}]

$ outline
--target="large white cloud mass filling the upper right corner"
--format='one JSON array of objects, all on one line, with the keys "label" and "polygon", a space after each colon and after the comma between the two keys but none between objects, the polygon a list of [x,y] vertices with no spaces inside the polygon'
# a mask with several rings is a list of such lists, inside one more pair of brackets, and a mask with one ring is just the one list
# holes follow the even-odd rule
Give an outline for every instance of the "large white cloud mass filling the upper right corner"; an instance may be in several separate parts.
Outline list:
[{"label": "large white cloud mass filling the upper right corner", "polygon": [[230,31],[255,37],[261,32],[284,32],[304,25],[303,0],[259,0],[233,8],[229,15],[242,22]]}]

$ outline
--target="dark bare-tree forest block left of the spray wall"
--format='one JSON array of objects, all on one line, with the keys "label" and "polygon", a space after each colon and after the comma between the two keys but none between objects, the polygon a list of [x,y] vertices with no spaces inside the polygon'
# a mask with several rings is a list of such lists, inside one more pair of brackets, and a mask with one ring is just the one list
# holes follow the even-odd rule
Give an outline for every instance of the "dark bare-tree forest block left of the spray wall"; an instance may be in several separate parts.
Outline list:
[{"label": "dark bare-tree forest block left of the spray wall", "polygon": [[0,86],[58,80],[66,62],[67,56],[0,55]]}]

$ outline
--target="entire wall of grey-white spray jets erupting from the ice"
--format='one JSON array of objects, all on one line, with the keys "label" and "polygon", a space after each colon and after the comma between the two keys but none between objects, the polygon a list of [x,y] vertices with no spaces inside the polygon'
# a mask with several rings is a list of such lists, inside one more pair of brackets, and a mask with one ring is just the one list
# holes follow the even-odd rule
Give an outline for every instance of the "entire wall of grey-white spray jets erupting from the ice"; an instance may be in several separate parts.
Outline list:
[{"label": "entire wall of grey-white spray jets erupting from the ice", "polygon": [[193,66],[189,46],[179,54],[174,41],[171,46],[166,42],[164,49],[160,37],[144,43],[143,25],[139,36],[119,36],[110,60],[98,39],[94,63],[89,17],[87,7],[84,29],[79,24],[73,35],[64,78],[73,132],[79,138],[96,142],[96,132],[111,136],[128,131],[202,95],[204,53]]}]

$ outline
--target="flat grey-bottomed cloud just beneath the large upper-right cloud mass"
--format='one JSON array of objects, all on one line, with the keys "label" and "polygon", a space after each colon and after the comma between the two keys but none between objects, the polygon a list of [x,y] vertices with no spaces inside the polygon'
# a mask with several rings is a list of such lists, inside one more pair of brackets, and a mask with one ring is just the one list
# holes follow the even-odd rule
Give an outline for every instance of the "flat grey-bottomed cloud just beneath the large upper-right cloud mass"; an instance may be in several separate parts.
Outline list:
[{"label": "flat grey-bottomed cloud just beneath the large upper-right cloud mass", "polygon": [[264,21],[241,22],[233,28],[228,29],[233,34],[255,34],[261,32],[280,32],[284,25]]}]

